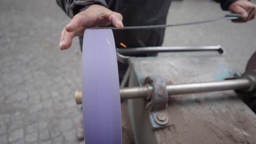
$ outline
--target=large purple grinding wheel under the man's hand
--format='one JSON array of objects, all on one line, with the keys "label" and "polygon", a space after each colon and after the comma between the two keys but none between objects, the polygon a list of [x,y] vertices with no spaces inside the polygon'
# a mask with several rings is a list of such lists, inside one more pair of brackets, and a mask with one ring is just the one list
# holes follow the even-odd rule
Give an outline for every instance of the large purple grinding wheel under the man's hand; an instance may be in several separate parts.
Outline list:
[{"label": "large purple grinding wheel under the man's hand", "polygon": [[83,119],[86,144],[121,144],[118,65],[110,29],[84,33]]}]

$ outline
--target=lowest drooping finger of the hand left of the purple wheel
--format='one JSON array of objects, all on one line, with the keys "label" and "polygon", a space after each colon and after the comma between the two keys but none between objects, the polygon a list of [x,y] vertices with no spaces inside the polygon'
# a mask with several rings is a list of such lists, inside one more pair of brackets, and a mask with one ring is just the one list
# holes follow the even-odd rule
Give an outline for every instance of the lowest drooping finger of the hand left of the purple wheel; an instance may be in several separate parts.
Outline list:
[{"label": "lowest drooping finger of the hand left of the purple wheel", "polygon": [[60,37],[60,44],[59,44],[59,49],[60,50],[66,50],[69,47],[71,47],[72,44],[72,39],[74,38],[75,34],[74,32],[67,32],[66,27],[63,28],[61,32],[61,37]]}]

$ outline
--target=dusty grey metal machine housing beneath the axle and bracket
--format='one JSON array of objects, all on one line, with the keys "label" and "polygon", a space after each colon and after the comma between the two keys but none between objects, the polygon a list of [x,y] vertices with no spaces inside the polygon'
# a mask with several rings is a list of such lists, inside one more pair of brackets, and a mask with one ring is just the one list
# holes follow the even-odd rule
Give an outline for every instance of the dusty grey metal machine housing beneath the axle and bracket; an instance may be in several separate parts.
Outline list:
[{"label": "dusty grey metal machine housing beneath the axle and bracket", "polygon": [[[144,85],[143,79],[147,76],[158,75],[166,85],[175,85],[222,81],[243,72],[232,68],[222,55],[202,52],[131,58],[129,62],[129,87]],[[128,100],[136,143],[256,142],[256,115],[235,91],[171,93],[168,93],[167,105],[155,110],[148,109],[149,102],[145,99]],[[167,121],[166,124],[162,124],[163,121]]]}]

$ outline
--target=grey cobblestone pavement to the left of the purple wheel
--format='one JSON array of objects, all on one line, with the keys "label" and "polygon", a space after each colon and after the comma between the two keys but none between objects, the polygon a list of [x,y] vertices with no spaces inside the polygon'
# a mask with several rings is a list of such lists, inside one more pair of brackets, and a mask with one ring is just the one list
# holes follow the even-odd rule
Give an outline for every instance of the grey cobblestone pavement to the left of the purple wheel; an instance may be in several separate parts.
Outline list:
[{"label": "grey cobblestone pavement to the left of the purple wheel", "polygon": [[57,49],[68,17],[50,0],[3,0],[0,17],[0,143],[78,143],[79,46]]}]

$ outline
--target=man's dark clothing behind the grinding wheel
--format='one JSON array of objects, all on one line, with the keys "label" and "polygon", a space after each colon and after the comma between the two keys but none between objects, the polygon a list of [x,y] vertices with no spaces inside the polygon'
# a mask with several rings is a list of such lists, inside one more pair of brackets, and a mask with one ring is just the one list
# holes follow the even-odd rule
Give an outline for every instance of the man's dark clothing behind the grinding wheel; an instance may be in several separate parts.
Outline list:
[{"label": "man's dark clothing behind the grinding wheel", "polygon": [[[73,17],[75,14],[90,7],[91,4],[100,4],[123,15],[124,26],[164,25],[171,0],[56,0],[57,4]],[[230,4],[236,0],[219,0],[223,10],[228,10]],[[164,40],[165,28],[156,29],[123,29],[114,30],[115,46],[120,43],[127,47],[161,46]],[[83,37],[79,38],[82,46]],[[82,47],[81,47],[82,48]],[[119,80],[123,79],[127,65],[118,63]]]}]

